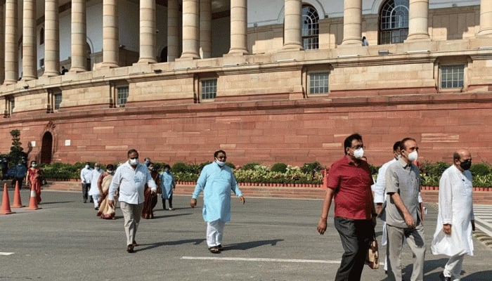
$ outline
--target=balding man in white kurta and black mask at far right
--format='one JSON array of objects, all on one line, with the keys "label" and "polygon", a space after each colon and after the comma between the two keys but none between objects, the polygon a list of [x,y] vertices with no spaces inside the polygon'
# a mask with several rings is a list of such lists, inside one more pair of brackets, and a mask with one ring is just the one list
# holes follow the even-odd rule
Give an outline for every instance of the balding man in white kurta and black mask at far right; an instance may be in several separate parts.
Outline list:
[{"label": "balding man in white kurta and black mask at far right", "polygon": [[472,155],[460,149],[453,155],[453,165],[439,181],[439,214],[432,240],[432,254],[449,256],[444,267],[444,280],[460,280],[465,254],[473,256],[472,231],[475,230],[472,173]]}]

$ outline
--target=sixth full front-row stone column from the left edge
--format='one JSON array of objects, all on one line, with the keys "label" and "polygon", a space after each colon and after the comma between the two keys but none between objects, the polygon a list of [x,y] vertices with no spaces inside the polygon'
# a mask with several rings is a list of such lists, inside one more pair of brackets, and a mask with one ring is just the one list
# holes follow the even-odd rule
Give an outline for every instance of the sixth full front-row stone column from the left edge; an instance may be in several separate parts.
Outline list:
[{"label": "sixth full front-row stone column from the left edge", "polygon": [[138,63],[157,63],[155,0],[140,0],[140,57]]}]

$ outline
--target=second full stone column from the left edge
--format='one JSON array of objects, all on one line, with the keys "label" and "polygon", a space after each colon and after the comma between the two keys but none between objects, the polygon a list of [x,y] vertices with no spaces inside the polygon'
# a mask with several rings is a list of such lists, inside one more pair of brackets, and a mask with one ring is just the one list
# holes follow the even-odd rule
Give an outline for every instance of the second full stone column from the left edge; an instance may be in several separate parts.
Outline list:
[{"label": "second full stone column from the left edge", "polygon": [[36,0],[24,0],[22,8],[22,80],[37,78]]}]

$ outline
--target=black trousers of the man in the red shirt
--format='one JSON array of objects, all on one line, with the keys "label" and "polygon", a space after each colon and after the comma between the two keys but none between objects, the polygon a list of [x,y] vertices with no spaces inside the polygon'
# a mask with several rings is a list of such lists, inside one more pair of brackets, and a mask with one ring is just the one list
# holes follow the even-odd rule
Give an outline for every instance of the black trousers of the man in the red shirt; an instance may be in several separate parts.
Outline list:
[{"label": "black trousers of the man in the red shirt", "polygon": [[373,220],[335,217],[335,228],[344,248],[335,281],[360,281],[365,256],[374,239]]}]

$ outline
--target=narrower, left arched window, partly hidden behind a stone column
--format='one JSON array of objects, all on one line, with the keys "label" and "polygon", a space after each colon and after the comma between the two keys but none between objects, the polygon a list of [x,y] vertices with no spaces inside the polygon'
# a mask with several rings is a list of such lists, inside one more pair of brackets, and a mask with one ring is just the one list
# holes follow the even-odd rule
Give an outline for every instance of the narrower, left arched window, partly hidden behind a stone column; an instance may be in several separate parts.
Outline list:
[{"label": "narrower, left arched window, partly hidden behind a stone column", "polygon": [[318,47],[319,16],[313,6],[302,6],[302,46],[304,50],[313,50]]}]

